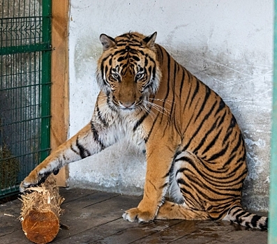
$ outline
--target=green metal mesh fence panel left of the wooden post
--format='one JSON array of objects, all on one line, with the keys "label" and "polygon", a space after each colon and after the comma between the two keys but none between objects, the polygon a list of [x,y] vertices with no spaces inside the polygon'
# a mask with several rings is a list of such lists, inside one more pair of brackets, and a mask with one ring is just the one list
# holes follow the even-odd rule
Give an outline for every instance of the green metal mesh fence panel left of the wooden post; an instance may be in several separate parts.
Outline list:
[{"label": "green metal mesh fence panel left of the wooden post", "polygon": [[0,198],[50,151],[51,0],[0,0]]}]

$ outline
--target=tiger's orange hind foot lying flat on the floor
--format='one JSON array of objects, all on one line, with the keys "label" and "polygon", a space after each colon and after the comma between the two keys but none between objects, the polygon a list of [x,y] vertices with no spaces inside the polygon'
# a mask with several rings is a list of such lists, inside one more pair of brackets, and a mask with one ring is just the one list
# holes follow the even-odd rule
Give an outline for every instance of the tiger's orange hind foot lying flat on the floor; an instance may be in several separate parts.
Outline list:
[{"label": "tiger's orange hind foot lying flat on the floor", "polygon": [[157,220],[209,220],[206,211],[189,209],[184,204],[165,201],[158,210]]}]

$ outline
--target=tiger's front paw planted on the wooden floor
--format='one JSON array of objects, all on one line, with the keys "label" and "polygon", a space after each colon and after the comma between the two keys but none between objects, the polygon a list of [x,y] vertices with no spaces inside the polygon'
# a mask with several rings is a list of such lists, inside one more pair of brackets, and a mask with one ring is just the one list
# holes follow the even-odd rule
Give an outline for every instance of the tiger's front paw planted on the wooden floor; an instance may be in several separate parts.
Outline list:
[{"label": "tiger's front paw planted on the wooden floor", "polygon": [[128,211],[125,211],[122,215],[124,220],[130,222],[149,222],[154,220],[155,213],[149,211],[140,211],[139,208],[130,208]]}]

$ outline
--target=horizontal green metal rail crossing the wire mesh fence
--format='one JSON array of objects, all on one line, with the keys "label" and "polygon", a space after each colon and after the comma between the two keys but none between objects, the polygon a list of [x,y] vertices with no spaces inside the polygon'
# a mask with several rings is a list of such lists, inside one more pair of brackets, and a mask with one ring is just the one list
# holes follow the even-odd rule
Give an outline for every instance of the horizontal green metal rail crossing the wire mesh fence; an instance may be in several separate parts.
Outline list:
[{"label": "horizontal green metal rail crossing the wire mesh fence", "polygon": [[40,52],[41,50],[50,51],[51,47],[49,43],[38,43],[33,45],[25,45],[25,46],[11,46],[11,47],[1,47],[0,55],[6,54],[19,54],[19,53],[27,53],[27,52]]}]

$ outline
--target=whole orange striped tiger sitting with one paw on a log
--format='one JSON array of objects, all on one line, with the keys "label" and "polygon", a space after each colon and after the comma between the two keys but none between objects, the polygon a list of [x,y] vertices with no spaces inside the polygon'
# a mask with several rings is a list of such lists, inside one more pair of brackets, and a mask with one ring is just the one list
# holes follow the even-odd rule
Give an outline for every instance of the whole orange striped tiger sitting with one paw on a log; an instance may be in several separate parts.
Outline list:
[{"label": "whole orange striped tiger sitting with one paw on a log", "polygon": [[124,220],[227,220],[267,229],[267,217],[241,204],[246,148],[230,108],[156,36],[100,35],[100,92],[91,121],[33,169],[20,191],[128,139],[144,150],[147,169],[142,200],[123,213]]}]

